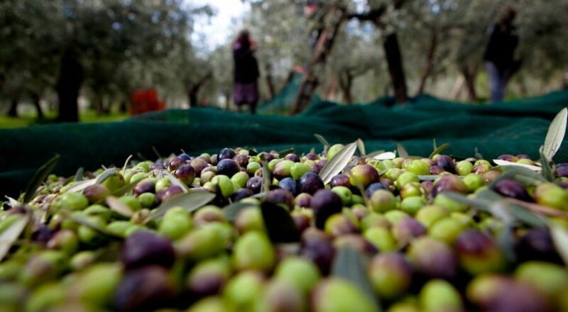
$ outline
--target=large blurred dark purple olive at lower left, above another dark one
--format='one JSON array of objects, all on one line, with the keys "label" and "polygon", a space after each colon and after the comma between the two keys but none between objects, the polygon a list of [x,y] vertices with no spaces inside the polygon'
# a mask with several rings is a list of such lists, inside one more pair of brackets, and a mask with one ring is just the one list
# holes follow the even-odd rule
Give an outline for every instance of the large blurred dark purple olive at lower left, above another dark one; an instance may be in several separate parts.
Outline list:
[{"label": "large blurred dark purple olive at lower left, above another dark one", "polygon": [[170,267],[175,255],[170,240],[148,231],[140,231],[126,239],[121,259],[126,269],[152,264]]}]

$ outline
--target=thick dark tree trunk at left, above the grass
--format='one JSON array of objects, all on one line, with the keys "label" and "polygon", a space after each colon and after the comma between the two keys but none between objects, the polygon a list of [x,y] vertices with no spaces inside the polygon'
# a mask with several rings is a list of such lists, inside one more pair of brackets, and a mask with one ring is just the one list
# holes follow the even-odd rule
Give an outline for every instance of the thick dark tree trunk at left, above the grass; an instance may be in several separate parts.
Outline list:
[{"label": "thick dark tree trunk at left, above the grass", "polygon": [[83,67],[77,56],[70,50],[61,59],[61,69],[57,84],[58,91],[58,122],[79,121],[77,98],[83,83]]}]

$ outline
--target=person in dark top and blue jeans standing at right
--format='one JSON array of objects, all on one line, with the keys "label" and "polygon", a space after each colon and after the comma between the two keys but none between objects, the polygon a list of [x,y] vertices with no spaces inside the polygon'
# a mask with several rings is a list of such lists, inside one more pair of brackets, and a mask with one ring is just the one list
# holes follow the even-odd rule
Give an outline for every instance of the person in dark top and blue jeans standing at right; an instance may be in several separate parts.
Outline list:
[{"label": "person in dark top and blue jeans standing at right", "polygon": [[491,102],[503,101],[507,82],[520,67],[520,62],[514,59],[519,41],[517,29],[513,25],[516,15],[517,11],[508,6],[501,13],[498,22],[489,28],[484,60],[491,84]]}]

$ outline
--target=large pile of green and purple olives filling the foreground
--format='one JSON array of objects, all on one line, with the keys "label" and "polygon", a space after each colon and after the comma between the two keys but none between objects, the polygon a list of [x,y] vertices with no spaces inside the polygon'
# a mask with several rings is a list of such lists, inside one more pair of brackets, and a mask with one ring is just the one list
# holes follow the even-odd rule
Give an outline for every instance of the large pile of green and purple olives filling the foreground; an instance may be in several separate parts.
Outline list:
[{"label": "large pile of green and purple olives filling the foreground", "polygon": [[[551,230],[568,229],[568,165],[541,181],[474,158],[348,155],[324,181],[343,149],[52,174],[0,211],[0,311],[568,311]],[[341,267],[345,249],[361,261]]]}]

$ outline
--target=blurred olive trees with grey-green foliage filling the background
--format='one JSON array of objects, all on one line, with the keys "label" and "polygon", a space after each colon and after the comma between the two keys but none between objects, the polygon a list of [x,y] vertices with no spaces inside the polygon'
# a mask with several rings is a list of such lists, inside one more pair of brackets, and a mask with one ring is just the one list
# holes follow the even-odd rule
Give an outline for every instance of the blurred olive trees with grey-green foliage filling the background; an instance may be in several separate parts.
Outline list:
[{"label": "blurred olive trees with grey-green foliage filling the background", "polygon": [[[243,23],[259,47],[262,98],[271,99],[309,62],[310,33],[329,18],[307,14],[306,0],[244,2],[251,9]],[[386,42],[395,38],[405,94],[483,101],[488,94],[482,60],[487,30],[506,5],[518,9],[517,52],[523,60],[508,97],[559,89],[568,70],[568,0],[318,4],[323,16],[332,8],[345,13],[318,74],[317,94],[324,99],[368,102],[395,94],[386,57]],[[196,21],[215,13],[190,0],[0,1],[0,112],[34,120],[119,117],[132,92],[148,88],[157,89],[168,107],[231,109],[230,40],[210,48],[195,39],[200,38]],[[238,31],[235,27],[234,35]],[[78,100],[69,100],[74,94]]]}]

